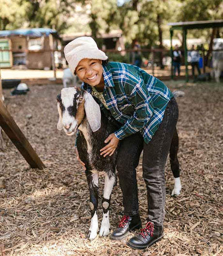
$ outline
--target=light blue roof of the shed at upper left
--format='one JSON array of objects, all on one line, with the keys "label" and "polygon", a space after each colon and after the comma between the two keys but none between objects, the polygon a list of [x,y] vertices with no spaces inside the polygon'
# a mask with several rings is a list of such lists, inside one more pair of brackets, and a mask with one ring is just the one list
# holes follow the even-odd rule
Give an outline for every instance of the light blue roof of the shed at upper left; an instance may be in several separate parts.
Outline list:
[{"label": "light blue roof of the shed at upper left", "polygon": [[14,37],[14,36],[30,36],[41,37],[43,35],[57,34],[56,30],[50,28],[28,28],[16,30],[1,30],[0,37]]}]

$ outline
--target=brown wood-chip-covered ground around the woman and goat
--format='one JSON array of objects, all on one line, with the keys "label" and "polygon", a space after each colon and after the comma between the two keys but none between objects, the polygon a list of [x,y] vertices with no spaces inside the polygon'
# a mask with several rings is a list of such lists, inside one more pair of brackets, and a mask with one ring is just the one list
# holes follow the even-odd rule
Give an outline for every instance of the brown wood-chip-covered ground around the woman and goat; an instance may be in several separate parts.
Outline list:
[{"label": "brown wood-chip-covered ground around the woman and goat", "polygon": [[[171,197],[174,179],[166,166],[165,236],[149,249],[127,247],[127,239],[112,241],[85,236],[90,224],[89,191],[74,153],[75,137],[56,129],[56,95],[60,85],[32,86],[27,95],[10,96],[5,104],[46,169],[31,169],[3,134],[0,150],[1,256],[220,256],[223,255],[223,85],[167,82],[185,91],[177,98],[177,124],[182,191]],[[103,190],[100,176],[100,195]],[[146,192],[138,167],[140,212],[146,222]],[[101,197],[98,216],[102,219]],[[111,229],[122,217],[122,195],[114,187]],[[100,226],[100,225],[99,225]],[[128,238],[133,236],[131,233]]]}]

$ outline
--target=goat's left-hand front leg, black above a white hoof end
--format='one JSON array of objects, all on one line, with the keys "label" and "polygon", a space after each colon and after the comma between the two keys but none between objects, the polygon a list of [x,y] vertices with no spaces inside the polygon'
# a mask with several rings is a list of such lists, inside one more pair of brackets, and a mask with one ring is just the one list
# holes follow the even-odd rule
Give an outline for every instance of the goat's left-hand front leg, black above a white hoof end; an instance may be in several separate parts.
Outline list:
[{"label": "goat's left-hand front leg, black above a white hoof end", "polygon": [[85,171],[90,190],[90,208],[91,208],[91,225],[87,233],[87,238],[93,240],[97,236],[97,204],[98,204],[98,172]]}]

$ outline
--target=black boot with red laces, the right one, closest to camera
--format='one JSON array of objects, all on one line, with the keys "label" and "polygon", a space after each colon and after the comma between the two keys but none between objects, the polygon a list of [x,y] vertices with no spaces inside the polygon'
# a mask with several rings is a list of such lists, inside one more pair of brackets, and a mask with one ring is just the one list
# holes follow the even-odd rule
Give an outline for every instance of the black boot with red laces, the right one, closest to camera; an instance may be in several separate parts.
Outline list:
[{"label": "black boot with red laces, the right one, closest to camera", "polygon": [[163,227],[154,225],[149,221],[141,230],[139,235],[128,240],[127,245],[132,249],[141,250],[158,242],[163,238],[163,236]]}]

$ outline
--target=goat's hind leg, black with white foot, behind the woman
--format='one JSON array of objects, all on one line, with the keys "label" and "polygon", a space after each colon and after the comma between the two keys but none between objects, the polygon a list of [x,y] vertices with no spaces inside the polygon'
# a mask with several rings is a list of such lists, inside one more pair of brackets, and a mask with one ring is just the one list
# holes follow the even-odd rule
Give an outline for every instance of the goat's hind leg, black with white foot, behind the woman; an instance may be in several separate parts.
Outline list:
[{"label": "goat's hind leg, black with white foot, behind the woman", "polygon": [[178,147],[179,147],[179,138],[178,138],[177,130],[175,128],[173,139],[170,146],[170,166],[174,174],[174,180],[175,180],[174,189],[171,193],[172,196],[179,195],[181,190],[180,169],[179,169],[179,162],[177,159]]}]

